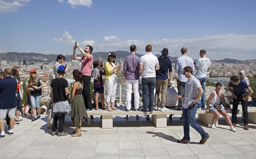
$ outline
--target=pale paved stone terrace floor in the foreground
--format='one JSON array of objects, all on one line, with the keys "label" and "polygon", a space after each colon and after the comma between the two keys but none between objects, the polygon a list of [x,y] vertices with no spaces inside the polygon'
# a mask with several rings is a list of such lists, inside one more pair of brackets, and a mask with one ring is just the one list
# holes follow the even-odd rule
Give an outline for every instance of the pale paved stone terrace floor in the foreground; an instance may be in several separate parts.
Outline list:
[{"label": "pale paved stone terrace floor in the foreground", "polygon": [[[229,114],[231,115],[231,114]],[[116,116],[113,129],[102,129],[101,119],[95,116],[91,125],[83,121],[82,137],[51,136],[47,129],[47,116],[31,122],[21,118],[16,124],[14,136],[0,139],[1,159],[256,159],[256,124],[243,129],[241,113],[237,132],[229,130],[224,118],[219,119],[217,129],[198,122],[210,134],[204,145],[193,128],[190,145],[178,144],[183,137],[180,116],[167,119],[167,128],[156,128],[145,116]],[[7,128],[7,127],[6,127]],[[65,131],[75,129],[70,117],[66,117]]]}]

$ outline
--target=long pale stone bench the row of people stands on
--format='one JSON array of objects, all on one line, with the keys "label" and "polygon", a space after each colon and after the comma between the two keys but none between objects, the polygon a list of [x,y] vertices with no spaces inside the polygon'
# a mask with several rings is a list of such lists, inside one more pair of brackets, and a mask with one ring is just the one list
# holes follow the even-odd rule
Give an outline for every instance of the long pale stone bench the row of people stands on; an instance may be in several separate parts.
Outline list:
[{"label": "long pale stone bench the row of people stands on", "polygon": [[[125,107],[116,107],[118,110],[114,110],[113,112],[107,111],[107,110],[92,110],[87,111],[88,116],[102,116],[102,128],[103,129],[111,129],[113,128],[113,116],[145,116],[145,115],[151,115],[152,116],[152,122],[155,125],[155,127],[167,127],[167,115],[170,114],[182,114],[182,111],[178,110],[172,110],[166,112],[161,112],[159,110],[154,110],[153,112],[142,112],[134,110],[130,110],[130,112],[125,111]],[[142,108],[142,107],[140,107]],[[209,113],[206,114],[204,110],[198,110],[198,121],[201,121],[202,123],[209,126],[212,122],[213,114]],[[69,113],[70,115],[70,113]],[[218,125],[218,121],[216,121],[215,125]],[[52,127],[52,119],[49,119],[49,111],[47,112],[47,127]]]}]

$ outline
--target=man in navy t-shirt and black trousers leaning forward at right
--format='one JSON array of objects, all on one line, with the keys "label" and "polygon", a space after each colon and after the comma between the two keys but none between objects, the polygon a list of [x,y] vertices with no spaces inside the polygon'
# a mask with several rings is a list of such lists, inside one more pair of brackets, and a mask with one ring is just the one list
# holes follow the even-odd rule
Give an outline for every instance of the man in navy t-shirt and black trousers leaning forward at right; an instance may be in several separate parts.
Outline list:
[{"label": "man in navy t-shirt and black trousers leaning forward at right", "polygon": [[236,127],[236,112],[239,102],[241,101],[243,116],[244,116],[244,130],[249,130],[248,127],[248,97],[253,94],[253,90],[243,81],[239,80],[236,75],[230,77],[228,85],[230,93],[233,95],[233,108],[232,108],[232,122],[233,127]]}]

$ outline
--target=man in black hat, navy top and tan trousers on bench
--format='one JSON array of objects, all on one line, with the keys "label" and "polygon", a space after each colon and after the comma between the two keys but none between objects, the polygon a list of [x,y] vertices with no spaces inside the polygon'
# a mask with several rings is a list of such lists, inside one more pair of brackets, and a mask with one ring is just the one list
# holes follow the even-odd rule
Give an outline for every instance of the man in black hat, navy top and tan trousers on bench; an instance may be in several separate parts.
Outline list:
[{"label": "man in black hat, navy top and tan trousers on bench", "polygon": [[[159,66],[160,68],[156,71],[156,78],[157,78],[157,84],[156,84],[156,94],[155,94],[155,108],[154,110],[157,110],[157,101],[159,98],[160,90],[161,90],[161,111],[168,111],[165,107],[165,101],[166,101],[166,90],[167,86],[170,85],[170,81],[172,79],[172,61],[168,58],[168,49],[164,48],[162,52],[162,56],[158,58]],[[168,80],[168,72],[169,69],[169,80]]]}]

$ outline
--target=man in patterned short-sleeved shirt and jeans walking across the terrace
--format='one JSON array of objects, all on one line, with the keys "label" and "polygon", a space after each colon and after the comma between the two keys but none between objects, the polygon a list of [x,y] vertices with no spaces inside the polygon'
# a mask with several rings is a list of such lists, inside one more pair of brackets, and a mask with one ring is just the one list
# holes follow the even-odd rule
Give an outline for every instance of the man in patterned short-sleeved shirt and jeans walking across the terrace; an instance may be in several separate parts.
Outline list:
[{"label": "man in patterned short-sleeved shirt and jeans walking across the terrace", "polygon": [[185,93],[184,95],[177,95],[177,98],[184,98],[184,104],[182,108],[183,114],[183,130],[184,136],[181,140],[178,140],[178,143],[189,144],[190,136],[189,136],[189,126],[193,127],[198,133],[200,133],[202,139],[200,140],[200,144],[204,144],[207,139],[209,139],[210,135],[204,131],[204,129],[195,122],[195,115],[197,111],[197,107],[195,106],[198,99],[203,94],[203,89],[200,84],[200,81],[196,79],[192,74],[192,68],[190,66],[186,66],[183,69],[183,74],[188,78],[188,81],[185,85]]}]

